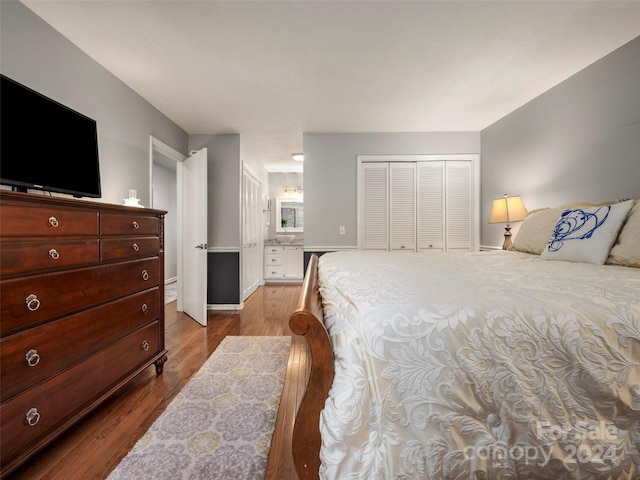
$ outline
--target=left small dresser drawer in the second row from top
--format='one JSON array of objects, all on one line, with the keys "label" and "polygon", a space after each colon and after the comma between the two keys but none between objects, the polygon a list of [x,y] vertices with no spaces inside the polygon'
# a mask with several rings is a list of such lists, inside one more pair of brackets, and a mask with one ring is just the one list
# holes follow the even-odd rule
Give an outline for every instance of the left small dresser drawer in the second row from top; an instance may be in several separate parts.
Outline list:
[{"label": "left small dresser drawer in the second row from top", "polygon": [[46,240],[0,245],[0,274],[55,270],[100,261],[100,243],[91,240]]}]

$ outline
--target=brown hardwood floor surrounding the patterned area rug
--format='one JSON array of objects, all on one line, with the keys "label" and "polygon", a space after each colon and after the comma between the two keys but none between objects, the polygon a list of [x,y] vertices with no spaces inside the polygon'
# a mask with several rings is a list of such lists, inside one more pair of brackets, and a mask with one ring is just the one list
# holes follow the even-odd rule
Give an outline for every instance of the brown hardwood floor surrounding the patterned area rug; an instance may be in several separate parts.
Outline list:
[{"label": "brown hardwood floor surrounding the patterned area rug", "polygon": [[170,303],[165,309],[169,353],[164,373],[156,376],[153,366],[147,368],[7,480],[106,478],[227,335],[293,337],[265,478],[297,480],[291,434],[309,366],[305,340],[288,326],[299,293],[299,285],[262,286],[241,311],[210,311],[207,327],[176,312],[176,302]]}]

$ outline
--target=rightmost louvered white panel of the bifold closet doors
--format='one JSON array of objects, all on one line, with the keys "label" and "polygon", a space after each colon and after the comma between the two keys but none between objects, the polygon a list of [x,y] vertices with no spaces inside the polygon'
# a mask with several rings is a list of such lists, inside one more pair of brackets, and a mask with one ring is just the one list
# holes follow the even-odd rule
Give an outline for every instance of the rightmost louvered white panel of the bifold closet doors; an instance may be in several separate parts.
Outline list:
[{"label": "rightmost louvered white panel of the bifold closet doors", "polygon": [[469,252],[473,244],[471,162],[446,162],[445,182],[447,251]]}]

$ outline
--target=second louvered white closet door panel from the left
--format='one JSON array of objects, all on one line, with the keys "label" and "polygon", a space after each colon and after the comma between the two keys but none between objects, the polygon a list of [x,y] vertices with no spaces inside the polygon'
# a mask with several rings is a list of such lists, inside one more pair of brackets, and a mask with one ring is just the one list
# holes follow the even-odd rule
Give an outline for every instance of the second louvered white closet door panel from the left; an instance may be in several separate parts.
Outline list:
[{"label": "second louvered white closet door panel from the left", "polygon": [[389,171],[391,250],[416,250],[416,164],[391,163]]}]

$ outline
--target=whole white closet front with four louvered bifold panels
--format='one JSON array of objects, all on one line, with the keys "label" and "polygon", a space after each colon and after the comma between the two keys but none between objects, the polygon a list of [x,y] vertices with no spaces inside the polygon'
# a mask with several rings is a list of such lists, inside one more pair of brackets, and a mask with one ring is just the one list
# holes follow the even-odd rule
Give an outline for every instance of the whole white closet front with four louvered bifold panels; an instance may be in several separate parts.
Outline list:
[{"label": "whole white closet front with four louvered bifold panels", "polygon": [[477,155],[358,157],[358,248],[477,250]]}]

